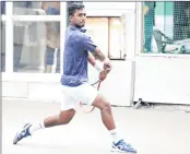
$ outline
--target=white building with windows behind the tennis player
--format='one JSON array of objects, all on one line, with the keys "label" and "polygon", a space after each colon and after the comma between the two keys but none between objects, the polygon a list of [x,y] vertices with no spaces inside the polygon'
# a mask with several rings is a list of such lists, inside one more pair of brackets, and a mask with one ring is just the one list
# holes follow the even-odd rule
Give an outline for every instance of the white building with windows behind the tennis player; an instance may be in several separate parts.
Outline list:
[{"label": "white building with windows behind the tennis player", "polygon": [[[83,3],[87,34],[112,60],[115,69],[102,90],[115,105],[129,106],[140,97],[188,104],[190,82],[183,76],[190,78],[190,2],[152,2],[151,24],[144,16],[151,11],[149,2]],[[60,100],[68,4],[5,2],[1,22],[3,97]],[[152,32],[145,34],[149,28]],[[147,36],[149,52],[144,50]]]}]

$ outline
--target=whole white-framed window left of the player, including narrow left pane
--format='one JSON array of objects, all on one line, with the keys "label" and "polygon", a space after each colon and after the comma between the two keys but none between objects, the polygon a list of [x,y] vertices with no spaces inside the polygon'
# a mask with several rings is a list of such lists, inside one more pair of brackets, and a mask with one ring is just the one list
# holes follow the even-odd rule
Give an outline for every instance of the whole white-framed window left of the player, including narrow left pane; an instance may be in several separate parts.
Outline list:
[{"label": "whole white-framed window left of the player, including narrow left pane", "polygon": [[61,73],[66,11],[59,1],[1,2],[1,71]]}]

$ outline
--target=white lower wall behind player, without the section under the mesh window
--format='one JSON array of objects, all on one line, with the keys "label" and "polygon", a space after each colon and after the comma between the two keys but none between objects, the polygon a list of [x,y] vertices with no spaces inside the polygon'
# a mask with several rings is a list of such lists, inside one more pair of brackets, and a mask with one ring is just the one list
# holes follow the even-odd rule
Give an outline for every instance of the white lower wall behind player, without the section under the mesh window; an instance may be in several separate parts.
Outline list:
[{"label": "white lower wall behind player, without the section under the mesh window", "polygon": [[[130,106],[131,98],[131,62],[114,61],[114,69],[107,80],[102,83],[100,92],[109,98],[112,105]],[[90,82],[97,81],[97,72],[94,68],[90,68]],[[24,74],[23,74],[24,75]],[[62,99],[60,75],[55,75],[54,79],[9,79],[3,76],[2,96],[16,97],[35,100],[50,100],[60,103]],[[54,74],[52,74],[54,75]],[[22,74],[20,74],[22,76]]]}]

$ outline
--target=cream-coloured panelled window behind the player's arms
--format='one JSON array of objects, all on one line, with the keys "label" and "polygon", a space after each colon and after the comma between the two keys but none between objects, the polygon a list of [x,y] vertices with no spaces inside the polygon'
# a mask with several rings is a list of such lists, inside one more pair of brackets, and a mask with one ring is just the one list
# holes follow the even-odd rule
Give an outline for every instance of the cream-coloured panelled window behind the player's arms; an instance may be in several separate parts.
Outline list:
[{"label": "cream-coloured panelled window behind the player's arms", "polygon": [[87,34],[110,59],[123,59],[123,27],[120,17],[87,17]]}]

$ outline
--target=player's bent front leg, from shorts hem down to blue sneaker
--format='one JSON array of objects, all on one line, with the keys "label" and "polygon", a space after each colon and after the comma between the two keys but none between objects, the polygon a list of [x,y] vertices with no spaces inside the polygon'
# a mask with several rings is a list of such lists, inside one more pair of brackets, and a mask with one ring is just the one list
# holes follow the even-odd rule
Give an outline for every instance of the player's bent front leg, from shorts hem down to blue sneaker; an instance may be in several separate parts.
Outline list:
[{"label": "player's bent front leg, from shorts hem down to blue sneaker", "polygon": [[84,85],[83,88],[81,88],[81,93],[84,93],[82,102],[99,108],[103,123],[110,132],[114,141],[112,150],[118,152],[136,153],[136,150],[134,150],[129,143],[123,140],[123,138],[118,134],[109,100],[105,98],[103,94],[98,93],[96,88],[87,84]]}]

